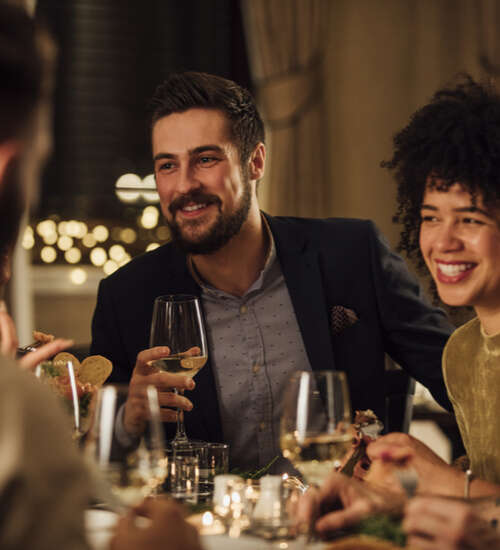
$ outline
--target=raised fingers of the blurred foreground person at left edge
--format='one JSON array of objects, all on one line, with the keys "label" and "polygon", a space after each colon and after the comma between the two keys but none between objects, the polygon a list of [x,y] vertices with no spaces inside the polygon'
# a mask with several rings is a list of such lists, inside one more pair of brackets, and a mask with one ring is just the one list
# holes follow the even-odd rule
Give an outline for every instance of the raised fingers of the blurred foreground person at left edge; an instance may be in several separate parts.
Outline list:
[{"label": "raised fingers of the blurred foreground person at left edge", "polygon": [[[35,351],[23,355],[18,361],[19,366],[25,370],[34,371],[35,367],[43,361],[48,361],[60,351],[64,351],[73,345],[73,340],[56,338],[47,344],[42,344]],[[19,340],[16,326],[12,317],[7,312],[5,302],[0,300],[0,352],[2,355],[15,358]]]}]

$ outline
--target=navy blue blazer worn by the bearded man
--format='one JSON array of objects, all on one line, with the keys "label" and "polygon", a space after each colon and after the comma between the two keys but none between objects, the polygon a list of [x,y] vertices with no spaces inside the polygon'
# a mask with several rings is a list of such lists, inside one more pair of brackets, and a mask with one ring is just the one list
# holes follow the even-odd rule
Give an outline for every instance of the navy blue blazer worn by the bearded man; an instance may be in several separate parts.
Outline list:
[{"label": "navy blue blazer worn by the bearded man", "polygon": [[[422,298],[416,279],[370,221],[270,217],[281,268],[313,369],[347,373],[353,410],[384,417],[387,352],[451,408],[441,371],[441,353],[453,327]],[[128,382],[137,353],[149,347],[156,296],[200,295],[186,255],[168,243],[139,256],[102,280],[92,322],[92,354],[113,362],[111,381]],[[353,310],[358,320],[339,334],[331,330],[333,306]],[[209,353],[210,357],[210,353]],[[210,366],[196,376],[186,413],[190,437],[222,441],[214,376]],[[169,426],[168,435],[173,435]]]}]

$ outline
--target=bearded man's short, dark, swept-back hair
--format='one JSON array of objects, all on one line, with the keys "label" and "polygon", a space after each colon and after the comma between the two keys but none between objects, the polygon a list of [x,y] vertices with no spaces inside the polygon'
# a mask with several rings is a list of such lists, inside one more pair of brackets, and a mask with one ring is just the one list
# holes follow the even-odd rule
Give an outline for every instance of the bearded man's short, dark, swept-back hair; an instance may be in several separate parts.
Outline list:
[{"label": "bearded man's short, dark, swept-back hair", "polygon": [[246,162],[259,142],[264,142],[264,124],[248,90],[235,82],[206,73],[171,74],[156,89],[151,100],[152,126],[172,113],[188,109],[217,109],[229,121],[230,137],[240,162]]}]

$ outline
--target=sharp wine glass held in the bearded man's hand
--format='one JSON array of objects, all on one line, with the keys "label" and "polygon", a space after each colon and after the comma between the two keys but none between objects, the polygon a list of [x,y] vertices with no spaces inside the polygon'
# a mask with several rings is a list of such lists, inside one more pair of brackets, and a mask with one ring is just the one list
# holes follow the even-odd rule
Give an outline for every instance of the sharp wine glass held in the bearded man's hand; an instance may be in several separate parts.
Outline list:
[{"label": "sharp wine glass held in the bearded man's hand", "polygon": [[[207,362],[207,338],[199,299],[190,294],[158,296],[149,343],[151,347],[168,346],[170,349],[170,355],[153,361],[155,367],[191,378],[195,376]],[[187,443],[184,413],[177,409],[177,431],[172,445]]]}]

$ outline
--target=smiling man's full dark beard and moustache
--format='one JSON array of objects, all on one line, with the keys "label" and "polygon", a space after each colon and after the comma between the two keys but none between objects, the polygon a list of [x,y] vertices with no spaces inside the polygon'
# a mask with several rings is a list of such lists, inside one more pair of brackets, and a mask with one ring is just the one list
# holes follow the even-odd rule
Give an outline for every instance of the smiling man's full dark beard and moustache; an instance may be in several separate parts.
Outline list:
[{"label": "smiling man's full dark beard and moustache", "polygon": [[[167,219],[167,224],[172,233],[173,241],[180,246],[184,252],[188,254],[211,254],[220,250],[226,245],[235,235],[237,235],[241,229],[241,226],[248,218],[248,212],[250,211],[250,205],[252,202],[252,193],[250,186],[250,179],[247,175],[242,175],[243,180],[243,195],[241,197],[240,204],[236,211],[230,214],[223,214],[220,210],[221,201],[219,197],[215,195],[208,195],[202,191],[193,191],[177,198],[169,206],[169,211],[172,215],[172,219]],[[199,238],[187,238],[182,233],[181,226],[175,220],[175,213],[180,208],[183,208],[189,203],[197,204],[215,204],[219,208],[219,214],[215,223],[209,228],[204,235]],[[184,224],[191,228],[196,228],[197,225],[202,226],[204,220],[192,220]]]}]

